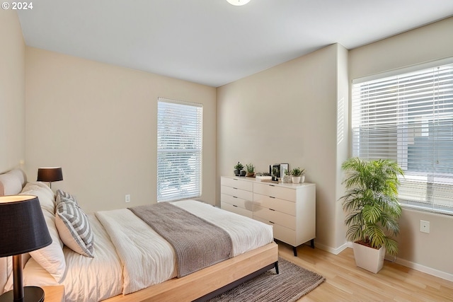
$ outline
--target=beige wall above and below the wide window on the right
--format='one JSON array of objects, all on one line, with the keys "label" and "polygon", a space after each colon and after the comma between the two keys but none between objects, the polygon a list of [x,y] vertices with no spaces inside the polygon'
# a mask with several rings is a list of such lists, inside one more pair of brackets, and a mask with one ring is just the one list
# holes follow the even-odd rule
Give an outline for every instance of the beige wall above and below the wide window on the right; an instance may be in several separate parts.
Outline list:
[{"label": "beige wall above and below the wide window on the right", "polygon": [[[350,79],[453,57],[453,18],[408,31],[349,52]],[[430,233],[420,233],[420,220]],[[398,262],[453,280],[453,217],[403,209]]]}]

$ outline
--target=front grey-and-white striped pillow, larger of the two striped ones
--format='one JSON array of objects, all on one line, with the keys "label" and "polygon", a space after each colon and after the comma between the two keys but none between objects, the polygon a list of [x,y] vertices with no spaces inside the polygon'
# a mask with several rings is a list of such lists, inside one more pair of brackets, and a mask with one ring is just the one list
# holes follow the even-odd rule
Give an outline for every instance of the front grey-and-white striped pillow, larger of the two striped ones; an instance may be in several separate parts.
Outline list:
[{"label": "front grey-and-white striped pillow, larger of the two striped ones", "polygon": [[94,236],[84,211],[74,202],[60,202],[55,214],[55,225],[63,243],[74,252],[93,257]]}]

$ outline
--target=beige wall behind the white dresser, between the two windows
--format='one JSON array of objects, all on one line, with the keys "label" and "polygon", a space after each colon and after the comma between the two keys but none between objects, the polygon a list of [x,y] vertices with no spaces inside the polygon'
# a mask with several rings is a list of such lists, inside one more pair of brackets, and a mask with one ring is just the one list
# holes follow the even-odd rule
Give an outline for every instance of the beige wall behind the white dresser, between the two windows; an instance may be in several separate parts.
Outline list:
[{"label": "beige wall behind the white dresser, between the two windows", "polygon": [[316,183],[316,246],[345,243],[343,219],[336,219],[336,146],[337,102],[348,100],[347,81],[337,88],[347,79],[346,54],[331,45],[217,88],[217,205],[220,176],[233,176],[238,161],[257,172],[272,163],[300,166],[306,182]]}]

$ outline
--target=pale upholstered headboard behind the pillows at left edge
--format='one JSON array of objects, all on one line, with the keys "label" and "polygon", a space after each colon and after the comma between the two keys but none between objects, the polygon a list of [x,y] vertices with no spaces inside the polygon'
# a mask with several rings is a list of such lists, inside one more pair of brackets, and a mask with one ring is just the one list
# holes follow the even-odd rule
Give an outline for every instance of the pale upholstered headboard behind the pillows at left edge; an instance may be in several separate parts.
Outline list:
[{"label": "pale upholstered headboard behind the pillows at left edge", "polygon": [[[26,182],[27,176],[21,169],[0,174],[0,196],[20,193]],[[0,294],[4,293],[6,281],[13,270],[11,259],[12,257],[0,258]]]}]

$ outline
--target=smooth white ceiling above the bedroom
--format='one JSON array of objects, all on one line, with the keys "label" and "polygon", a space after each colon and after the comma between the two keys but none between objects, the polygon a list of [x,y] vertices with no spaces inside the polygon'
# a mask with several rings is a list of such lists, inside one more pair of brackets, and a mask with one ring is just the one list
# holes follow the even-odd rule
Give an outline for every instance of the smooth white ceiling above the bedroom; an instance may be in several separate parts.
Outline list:
[{"label": "smooth white ceiling above the bedroom", "polygon": [[217,87],[453,16],[453,0],[38,0],[18,15],[28,46]]}]

